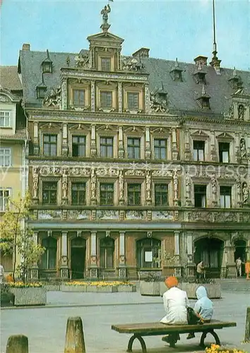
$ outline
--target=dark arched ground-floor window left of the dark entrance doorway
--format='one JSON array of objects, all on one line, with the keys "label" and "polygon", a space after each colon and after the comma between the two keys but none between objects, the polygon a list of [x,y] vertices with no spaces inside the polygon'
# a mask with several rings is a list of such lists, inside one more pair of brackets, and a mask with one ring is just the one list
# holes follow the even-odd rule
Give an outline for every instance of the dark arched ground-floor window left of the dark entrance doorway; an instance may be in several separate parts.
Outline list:
[{"label": "dark arched ground-floor window left of the dark entrance doorway", "polygon": [[42,246],[46,249],[42,254],[41,266],[44,270],[56,268],[57,241],[52,237],[42,239]]}]

